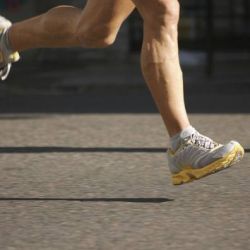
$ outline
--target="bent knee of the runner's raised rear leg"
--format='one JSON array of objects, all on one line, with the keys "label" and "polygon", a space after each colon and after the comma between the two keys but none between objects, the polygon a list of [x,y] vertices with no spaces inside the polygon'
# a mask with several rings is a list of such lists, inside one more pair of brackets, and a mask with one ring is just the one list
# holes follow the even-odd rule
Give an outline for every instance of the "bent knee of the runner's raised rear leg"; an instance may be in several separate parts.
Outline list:
[{"label": "bent knee of the runner's raised rear leg", "polygon": [[116,33],[108,25],[83,25],[76,29],[75,37],[85,48],[105,48],[112,45]]}]

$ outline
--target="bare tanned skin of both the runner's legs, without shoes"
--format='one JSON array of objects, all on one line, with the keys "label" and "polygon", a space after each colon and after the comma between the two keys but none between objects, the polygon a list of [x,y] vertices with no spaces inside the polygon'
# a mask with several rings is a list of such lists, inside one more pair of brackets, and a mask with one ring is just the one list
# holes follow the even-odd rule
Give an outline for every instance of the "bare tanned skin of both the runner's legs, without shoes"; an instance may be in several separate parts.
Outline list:
[{"label": "bare tanned skin of both the runner's legs, without shoes", "polygon": [[177,0],[88,0],[83,10],[59,6],[13,24],[9,40],[13,51],[33,48],[102,48],[111,45],[119,28],[137,8],[144,20],[141,66],[170,136],[190,125],[183,97],[178,52]]}]

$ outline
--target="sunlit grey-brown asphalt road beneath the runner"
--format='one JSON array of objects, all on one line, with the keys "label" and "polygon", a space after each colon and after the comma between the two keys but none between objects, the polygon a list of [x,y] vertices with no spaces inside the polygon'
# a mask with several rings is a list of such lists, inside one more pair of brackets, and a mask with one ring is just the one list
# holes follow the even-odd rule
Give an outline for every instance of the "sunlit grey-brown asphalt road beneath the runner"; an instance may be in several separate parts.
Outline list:
[{"label": "sunlit grey-brown asphalt road beneath the runner", "polygon": [[191,114],[247,153],[174,187],[158,114],[21,111],[0,115],[1,250],[249,249],[248,113]]}]

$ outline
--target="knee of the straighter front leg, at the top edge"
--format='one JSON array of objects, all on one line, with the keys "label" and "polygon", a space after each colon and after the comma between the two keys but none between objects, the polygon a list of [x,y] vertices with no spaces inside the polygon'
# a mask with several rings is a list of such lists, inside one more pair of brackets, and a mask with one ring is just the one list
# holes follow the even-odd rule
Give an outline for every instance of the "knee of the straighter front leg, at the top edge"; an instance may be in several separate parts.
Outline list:
[{"label": "knee of the straighter front leg, at the top edge", "polygon": [[[151,2],[151,1],[150,1]],[[178,0],[156,0],[144,6],[144,22],[159,26],[176,26],[179,22],[180,5]]]}]

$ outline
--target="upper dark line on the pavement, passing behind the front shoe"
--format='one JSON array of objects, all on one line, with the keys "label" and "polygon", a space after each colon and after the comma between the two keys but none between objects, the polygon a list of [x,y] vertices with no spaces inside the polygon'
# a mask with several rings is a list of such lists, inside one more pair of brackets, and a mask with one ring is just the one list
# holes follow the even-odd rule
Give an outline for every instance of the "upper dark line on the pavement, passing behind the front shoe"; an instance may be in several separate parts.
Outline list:
[{"label": "upper dark line on the pavement, passing behind the front shoe", "polygon": [[[0,147],[0,154],[47,153],[166,153],[167,148],[105,148],[105,147]],[[245,149],[250,153],[250,148]]]}]

